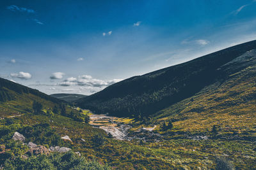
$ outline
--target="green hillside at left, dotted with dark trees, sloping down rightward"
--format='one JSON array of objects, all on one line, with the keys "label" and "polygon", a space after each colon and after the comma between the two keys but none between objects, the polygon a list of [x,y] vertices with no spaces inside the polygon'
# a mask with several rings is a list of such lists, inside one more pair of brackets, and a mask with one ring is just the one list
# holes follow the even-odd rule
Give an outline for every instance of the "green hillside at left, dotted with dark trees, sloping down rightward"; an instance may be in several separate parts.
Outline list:
[{"label": "green hillside at left, dotted with dark trees, sloping down rightward", "polygon": [[19,113],[31,113],[33,112],[33,101],[39,101],[44,107],[48,108],[65,103],[65,101],[48,96],[38,90],[0,78],[1,117]]}]

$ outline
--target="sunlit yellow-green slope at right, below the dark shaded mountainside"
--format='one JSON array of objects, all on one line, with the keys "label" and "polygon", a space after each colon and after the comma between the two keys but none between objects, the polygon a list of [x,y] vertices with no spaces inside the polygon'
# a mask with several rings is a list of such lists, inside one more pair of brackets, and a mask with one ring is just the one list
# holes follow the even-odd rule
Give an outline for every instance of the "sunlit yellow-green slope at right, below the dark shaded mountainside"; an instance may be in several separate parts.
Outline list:
[{"label": "sunlit yellow-green slope at right, below the dark shaded mountainside", "polygon": [[225,78],[204,87],[195,96],[158,111],[152,115],[151,123],[172,120],[179,131],[211,131],[213,125],[218,125],[224,133],[253,134],[256,127],[256,49],[219,69],[226,73]]}]

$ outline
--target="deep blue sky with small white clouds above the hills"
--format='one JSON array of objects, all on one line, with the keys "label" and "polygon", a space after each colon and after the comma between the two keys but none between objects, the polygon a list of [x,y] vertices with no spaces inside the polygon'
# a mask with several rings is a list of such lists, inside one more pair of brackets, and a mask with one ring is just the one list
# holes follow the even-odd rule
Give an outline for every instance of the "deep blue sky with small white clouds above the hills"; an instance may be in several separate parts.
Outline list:
[{"label": "deep blue sky with small white clouds above the hills", "polygon": [[0,1],[0,77],[90,95],[256,39],[256,0]]}]

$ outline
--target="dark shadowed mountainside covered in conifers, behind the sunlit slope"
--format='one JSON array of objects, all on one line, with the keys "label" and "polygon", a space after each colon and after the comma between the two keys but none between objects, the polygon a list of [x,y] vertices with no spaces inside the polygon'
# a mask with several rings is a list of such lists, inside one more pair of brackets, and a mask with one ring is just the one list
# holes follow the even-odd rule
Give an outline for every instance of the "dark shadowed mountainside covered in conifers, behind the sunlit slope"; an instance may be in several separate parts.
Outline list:
[{"label": "dark shadowed mountainside covered in conifers, behind the sunlit slope", "polygon": [[79,99],[77,104],[97,113],[119,117],[152,115],[194,96],[205,87],[227,80],[246,67],[254,67],[254,60],[247,60],[255,48],[256,41],[250,41],[176,66],[134,76]]}]

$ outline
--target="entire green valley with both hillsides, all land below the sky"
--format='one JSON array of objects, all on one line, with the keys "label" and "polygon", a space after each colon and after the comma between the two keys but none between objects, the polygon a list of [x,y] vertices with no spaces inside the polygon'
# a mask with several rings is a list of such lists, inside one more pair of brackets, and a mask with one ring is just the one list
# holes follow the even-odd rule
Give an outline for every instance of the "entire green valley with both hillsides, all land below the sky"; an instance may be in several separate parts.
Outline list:
[{"label": "entire green valley with both hillsides, all land below the sky", "polygon": [[[81,169],[85,160],[99,169],[255,169],[255,49],[256,41],[232,46],[78,100],[0,78],[1,166],[69,155]],[[27,143],[49,156],[33,157]]]}]

